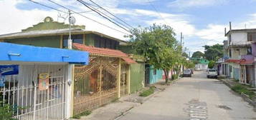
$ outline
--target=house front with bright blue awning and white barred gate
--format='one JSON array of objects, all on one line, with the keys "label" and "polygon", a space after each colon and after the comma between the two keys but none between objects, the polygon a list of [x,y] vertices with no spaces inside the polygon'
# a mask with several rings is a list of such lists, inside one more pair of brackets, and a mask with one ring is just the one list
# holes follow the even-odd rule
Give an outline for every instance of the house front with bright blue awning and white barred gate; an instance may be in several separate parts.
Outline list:
[{"label": "house front with bright blue awning and white barred gate", "polygon": [[69,66],[89,64],[87,52],[4,42],[0,50],[1,108],[14,106],[14,119],[70,118]]}]

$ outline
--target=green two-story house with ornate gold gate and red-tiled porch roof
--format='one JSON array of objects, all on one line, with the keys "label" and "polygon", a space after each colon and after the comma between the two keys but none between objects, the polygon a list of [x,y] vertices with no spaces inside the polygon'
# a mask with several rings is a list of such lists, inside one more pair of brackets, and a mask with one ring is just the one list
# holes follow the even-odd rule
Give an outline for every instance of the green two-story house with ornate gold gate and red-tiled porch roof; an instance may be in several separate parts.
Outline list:
[{"label": "green two-story house with ornate gold gate and red-tiled porch roof", "polygon": [[[134,86],[141,82],[133,76],[141,76],[143,67],[118,50],[120,44],[126,41],[97,31],[87,31],[85,26],[72,25],[71,34],[73,49],[90,54],[89,65],[75,65],[72,71],[73,114],[95,109],[129,94],[131,90],[141,89],[141,86]],[[43,22],[22,32],[0,35],[0,42],[66,49],[68,36],[68,24],[46,17]],[[136,88],[133,89],[131,85]]]}]

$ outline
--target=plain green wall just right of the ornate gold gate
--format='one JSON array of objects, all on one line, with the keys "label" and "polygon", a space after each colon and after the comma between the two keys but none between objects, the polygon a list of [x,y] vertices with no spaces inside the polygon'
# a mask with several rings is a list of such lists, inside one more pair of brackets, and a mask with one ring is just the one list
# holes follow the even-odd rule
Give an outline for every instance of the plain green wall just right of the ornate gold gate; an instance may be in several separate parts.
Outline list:
[{"label": "plain green wall just right of the ornate gold gate", "polygon": [[145,65],[143,63],[131,64],[131,93],[143,88],[144,69]]}]

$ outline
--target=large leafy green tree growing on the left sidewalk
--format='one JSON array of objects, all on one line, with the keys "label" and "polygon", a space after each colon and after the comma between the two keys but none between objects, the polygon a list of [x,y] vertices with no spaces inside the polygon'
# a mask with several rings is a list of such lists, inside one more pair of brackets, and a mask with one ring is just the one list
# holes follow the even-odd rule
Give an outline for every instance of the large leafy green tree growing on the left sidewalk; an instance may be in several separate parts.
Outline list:
[{"label": "large leafy green tree growing on the left sidewalk", "polygon": [[181,46],[175,39],[174,29],[167,25],[156,25],[131,31],[129,36],[135,54],[145,57],[146,62],[163,69],[166,76],[166,84],[169,84],[169,71],[179,66],[181,58]]}]

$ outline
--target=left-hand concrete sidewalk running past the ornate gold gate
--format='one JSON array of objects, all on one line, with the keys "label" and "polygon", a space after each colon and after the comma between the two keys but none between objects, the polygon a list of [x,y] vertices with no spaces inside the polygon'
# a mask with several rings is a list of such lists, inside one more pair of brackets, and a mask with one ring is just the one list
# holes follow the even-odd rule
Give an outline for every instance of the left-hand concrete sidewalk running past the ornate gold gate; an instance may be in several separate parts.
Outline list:
[{"label": "left-hand concrete sidewalk running past the ornate gold gate", "polygon": [[[178,79],[177,79],[178,80]],[[177,81],[175,80],[175,81]],[[175,81],[172,81],[171,84],[174,84]],[[164,91],[168,86],[165,85],[164,80],[158,81],[156,84],[152,84],[156,86],[154,94],[150,96],[138,96],[140,92],[136,92],[135,94],[130,94],[127,96],[121,97],[118,101],[107,104],[105,106],[101,106],[98,109],[93,110],[92,114],[89,116],[81,116],[80,120],[113,120],[120,116],[123,116],[125,113],[130,111],[136,106],[140,106],[143,102],[147,101],[151,97],[158,94],[160,91]],[[72,119],[75,120],[75,119]]]}]

